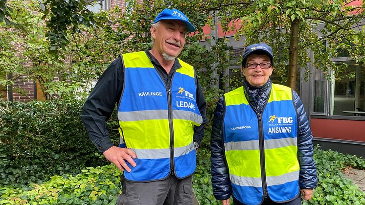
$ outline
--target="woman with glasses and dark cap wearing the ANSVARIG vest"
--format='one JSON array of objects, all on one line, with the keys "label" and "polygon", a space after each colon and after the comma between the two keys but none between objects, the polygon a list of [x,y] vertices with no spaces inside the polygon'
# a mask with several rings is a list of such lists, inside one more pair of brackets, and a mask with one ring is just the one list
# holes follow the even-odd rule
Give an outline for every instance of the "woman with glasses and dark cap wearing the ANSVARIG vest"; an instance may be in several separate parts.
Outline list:
[{"label": "woman with glasses and dark cap wearing the ANSVARIG vest", "polygon": [[301,205],[317,186],[312,132],[292,89],[271,83],[270,46],[247,46],[244,85],[224,94],[211,134],[213,194],[223,205]]}]

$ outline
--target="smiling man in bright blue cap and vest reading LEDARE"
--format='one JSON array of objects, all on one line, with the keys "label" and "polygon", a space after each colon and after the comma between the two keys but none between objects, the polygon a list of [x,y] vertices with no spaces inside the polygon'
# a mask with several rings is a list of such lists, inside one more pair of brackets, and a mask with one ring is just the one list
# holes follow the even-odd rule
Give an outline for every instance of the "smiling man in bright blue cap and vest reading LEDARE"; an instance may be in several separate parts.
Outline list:
[{"label": "smiling man in bright blue cap and vest reading LEDARE", "polygon": [[[181,11],[164,9],[150,31],[152,49],[114,60],[81,117],[97,149],[125,170],[118,204],[192,205],[206,103],[194,68],[177,56],[195,27]],[[119,147],[106,124],[116,103]]]}]

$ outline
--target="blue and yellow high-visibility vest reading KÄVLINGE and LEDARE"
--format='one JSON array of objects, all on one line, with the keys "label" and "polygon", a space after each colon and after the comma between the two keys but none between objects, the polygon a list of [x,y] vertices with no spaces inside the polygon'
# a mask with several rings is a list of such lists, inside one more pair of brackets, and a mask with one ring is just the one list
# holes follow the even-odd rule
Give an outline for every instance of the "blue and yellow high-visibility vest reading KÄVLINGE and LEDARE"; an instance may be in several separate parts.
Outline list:
[{"label": "blue and yellow high-visibility vest reading K\u00c4VLINGE and LEDARE", "polygon": [[[196,104],[194,68],[181,61],[166,87],[144,51],[122,55],[124,87],[118,106],[119,133],[134,151],[137,166],[127,180],[157,181],[171,171],[181,179],[196,168],[194,126],[202,122]],[[113,89],[113,88],[111,88]]]}]

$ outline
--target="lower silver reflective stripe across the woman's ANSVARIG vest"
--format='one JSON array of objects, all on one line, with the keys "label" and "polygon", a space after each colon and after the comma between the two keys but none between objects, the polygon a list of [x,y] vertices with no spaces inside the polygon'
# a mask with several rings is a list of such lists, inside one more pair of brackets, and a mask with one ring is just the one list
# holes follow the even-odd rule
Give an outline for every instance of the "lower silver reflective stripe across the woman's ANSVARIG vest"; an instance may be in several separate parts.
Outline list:
[{"label": "lower silver reflective stripe across the woman's ANSVARIG vest", "polygon": [[[262,187],[261,177],[239,177],[233,174],[229,174],[229,178],[232,183],[240,186]],[[297,181],[298,179],[299,171],[294,171],[280,176],[266,177],[266,183],[268,186],[274,186],[287,182]]]}]

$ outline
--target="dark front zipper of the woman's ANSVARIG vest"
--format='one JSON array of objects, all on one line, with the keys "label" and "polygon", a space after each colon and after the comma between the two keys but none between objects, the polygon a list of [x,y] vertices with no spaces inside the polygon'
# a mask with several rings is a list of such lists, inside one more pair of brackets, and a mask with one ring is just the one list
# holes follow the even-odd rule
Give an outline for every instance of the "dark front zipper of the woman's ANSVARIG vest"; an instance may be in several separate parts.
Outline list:
[{"label": "dark front zipper of the woman's ANSVARIG vest", "polygon": [[261,181],[262,189],[264,191],[264,198],[268,197],[267,184],[266,184],[266,170],[265,170],[265,147],[264,147],[264,133],[262,127],[262,117],[261,113],[257,113],[258,118],[258,130],[259,130],[259,148],[260,148],[260,166],[261,166]]}]

